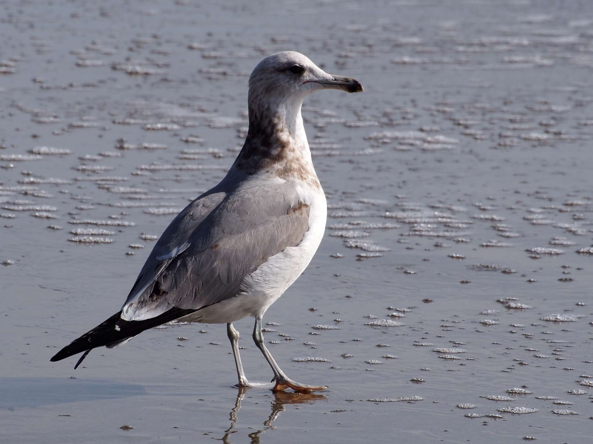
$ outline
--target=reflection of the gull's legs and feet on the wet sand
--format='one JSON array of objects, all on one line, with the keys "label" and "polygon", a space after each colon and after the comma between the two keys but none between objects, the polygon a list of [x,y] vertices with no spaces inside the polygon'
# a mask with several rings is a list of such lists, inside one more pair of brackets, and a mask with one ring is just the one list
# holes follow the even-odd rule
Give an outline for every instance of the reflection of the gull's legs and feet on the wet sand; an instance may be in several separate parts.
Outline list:
[{"label": "reflection of the gull's legs and feet on the wet sand", "polygon": [[[237,393],[237,400],[235,401],[235,406],[231,409],[231,413],[229,414],[229,420],[231,421],[231,426],[225,430],[224,436],[222,437],[222,442],[224,444],[232,444],[231,435],[233,433],[237,433],[238,430],[235,430],[235,427],[238,423],[238,413],[241,409],[241,401],[247,394],[248,388],[240,387]],[[278,418],[280,413],[286,408],[284,407],[285,404],[305,404],[305,403],[313,403],[317,400],[326,399],[324,395],[318,395],[314,393],[295,393],[295,392],[276,392],[273,394],[274,399],[272,401],[272,413],[267,417],[267,419],[263,422],[263,428],[257,430],[256,432],[250,433],[248,436],[251,439],[251,444],[260,444],[261,442],[261,435],[262,433],[266,432],[269,429],[275,429],[276,427],[272,425],[272,423]]]}]

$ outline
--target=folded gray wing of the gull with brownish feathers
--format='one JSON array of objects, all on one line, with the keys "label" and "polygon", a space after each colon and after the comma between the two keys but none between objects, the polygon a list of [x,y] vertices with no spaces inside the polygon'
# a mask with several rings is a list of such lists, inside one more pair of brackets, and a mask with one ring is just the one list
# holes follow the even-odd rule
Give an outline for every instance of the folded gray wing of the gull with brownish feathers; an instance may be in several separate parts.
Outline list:
[{"label": "folded gray wing of the gull with brownish feathers", "polygon": [[263,185],[200,197],[177,215],[146,260],[122,318],[199,310],[234,297],[245,276],[300,243],[308,205],[291,184]]}]

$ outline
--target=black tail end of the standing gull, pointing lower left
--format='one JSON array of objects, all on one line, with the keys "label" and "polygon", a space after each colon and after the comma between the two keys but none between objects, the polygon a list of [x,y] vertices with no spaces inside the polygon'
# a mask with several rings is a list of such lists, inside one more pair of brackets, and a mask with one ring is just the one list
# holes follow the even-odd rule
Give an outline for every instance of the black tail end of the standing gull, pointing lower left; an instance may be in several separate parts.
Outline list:
[{"label": "black tail end of the standing gull, pointing lower left", "polygon": [[145,319],[142,321],[126,321],[122,319],[122,312],[114,314],[109,319],[103,321],[93,330],[83,334],[78,339],[72,341],[62,350],[56,353],[50,361],[61,361],[69,358],[69,356],[76,355],[76,353],[85,352],[76,363],[78,367],[82,360],[87,357],[88,353],[97,347],[107,346],[113,348],[117,345],[125,343],[132,339],[136,334],[144,332],[144,330],[152,327],[160,326],[161,324],[173,321],[186,314],[192,313],[195,310],[183,310],[181,308],[171,308],[159,316]]}]

